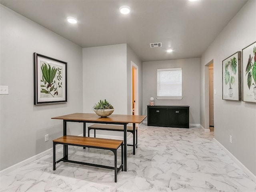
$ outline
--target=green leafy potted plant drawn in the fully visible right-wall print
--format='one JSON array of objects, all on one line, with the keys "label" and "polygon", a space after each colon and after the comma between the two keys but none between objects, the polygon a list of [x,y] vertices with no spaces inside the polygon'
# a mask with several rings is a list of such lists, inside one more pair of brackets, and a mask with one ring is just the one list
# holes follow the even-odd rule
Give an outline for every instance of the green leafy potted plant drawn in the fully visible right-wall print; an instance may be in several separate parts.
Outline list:
[{"label": "green leafy potted plant drawn in the fully visible right-wall print", "polygon": [[235,57],[231,58],[226,64],[225,64],[225,74],[224,74],[224,80],[225,84],[229,83],[229,89],[228,89],[228,96],[233,96],[233,88],[232,85],[235,82],[235,77],[232,74],[236,74],[236,66],[237,66],[237,60]]}]

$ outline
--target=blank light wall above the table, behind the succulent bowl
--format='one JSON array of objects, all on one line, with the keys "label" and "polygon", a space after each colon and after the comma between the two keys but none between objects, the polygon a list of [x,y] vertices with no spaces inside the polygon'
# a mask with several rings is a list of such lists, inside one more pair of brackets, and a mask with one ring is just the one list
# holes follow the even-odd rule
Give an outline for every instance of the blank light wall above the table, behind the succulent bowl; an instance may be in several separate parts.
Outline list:
[{"label": "blank light wall above the table, behind the succulent bowl", "polygon": [[84,113],[106,99],[113,114],[127,114],[126,62],[126,44],[83,48]]}]

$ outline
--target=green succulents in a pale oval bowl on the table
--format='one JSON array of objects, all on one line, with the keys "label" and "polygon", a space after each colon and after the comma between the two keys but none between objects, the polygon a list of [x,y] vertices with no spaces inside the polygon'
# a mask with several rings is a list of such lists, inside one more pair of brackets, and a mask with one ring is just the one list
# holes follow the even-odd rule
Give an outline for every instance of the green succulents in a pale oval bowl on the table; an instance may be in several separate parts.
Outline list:
[{"label": "green succulents in a pale oval bowl on the table", "polygon": [[114,112],[114,107],[105,99],[104,102],[100,100],[98,104],[94,104],[93,110],[98,116],[107,117]]}]

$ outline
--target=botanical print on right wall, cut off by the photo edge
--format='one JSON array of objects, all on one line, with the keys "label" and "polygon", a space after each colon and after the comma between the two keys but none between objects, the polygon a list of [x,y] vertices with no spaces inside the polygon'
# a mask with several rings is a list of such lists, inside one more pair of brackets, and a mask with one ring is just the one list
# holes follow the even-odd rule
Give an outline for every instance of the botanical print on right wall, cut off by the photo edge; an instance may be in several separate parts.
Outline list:
[{"label": "botanical print on right wall, cut off by the photo edge", "polygon": [[243,101],[256,102],[256,42],[242,49]]}]

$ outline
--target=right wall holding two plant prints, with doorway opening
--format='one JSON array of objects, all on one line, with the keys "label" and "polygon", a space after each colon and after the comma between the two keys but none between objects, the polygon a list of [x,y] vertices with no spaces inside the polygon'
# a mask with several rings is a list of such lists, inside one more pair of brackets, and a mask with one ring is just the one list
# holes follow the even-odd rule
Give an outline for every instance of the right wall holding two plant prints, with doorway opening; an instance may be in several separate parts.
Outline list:
[{"label": "right wall holding two plant prints, with doorway opening", "polygon": [[[201,120],[205,111],[205,65],[214,61],[214,137],[256,175],[256,103],[222,100],[222,60],[256,41],[256,1],[249,0],[201,57]],[[243,64],[242,64],[243,65]],[[201,124],[204,122],[201,121]],[[233,143],[229,142],[232,136]]]}]

